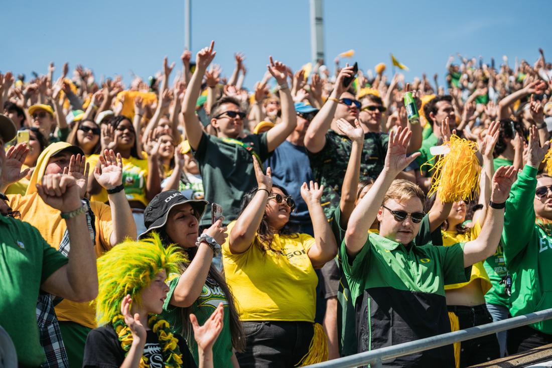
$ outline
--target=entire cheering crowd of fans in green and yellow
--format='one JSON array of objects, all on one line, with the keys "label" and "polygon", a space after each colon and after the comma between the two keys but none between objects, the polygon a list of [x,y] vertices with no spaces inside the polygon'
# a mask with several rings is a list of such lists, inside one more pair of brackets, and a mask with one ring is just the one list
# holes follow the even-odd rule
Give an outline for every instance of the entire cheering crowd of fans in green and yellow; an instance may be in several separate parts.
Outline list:
[{"label": "entire cheering crowd of fans in green and yellow", "polygon": [[[552,308],[539,51],[450,56],[446,86],[271,56],[248,91],[245,57],[224,77],[214,43],[172,86],[167,59],[128,86],[0,73],[0,327],[19,365],[291,367]],[[384,366],[550,343],[545,321]]]}]

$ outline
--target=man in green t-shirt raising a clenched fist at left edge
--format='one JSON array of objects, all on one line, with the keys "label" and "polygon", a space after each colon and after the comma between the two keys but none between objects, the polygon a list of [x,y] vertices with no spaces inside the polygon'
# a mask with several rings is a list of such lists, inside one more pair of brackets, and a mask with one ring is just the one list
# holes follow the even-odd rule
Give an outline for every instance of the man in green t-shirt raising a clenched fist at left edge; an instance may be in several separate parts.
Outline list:
[{"label": "man in green t-shirt raising a clenched fist at left edge", "polygon": [[[4,174],[13,170],[4,143],[15,136],[15,126],[0,114],[0,186]],[[66,299],[87,302],[98,293],[94,247],[75,178],[45,175],[36,188],[41,200],[61,213],[71,242],[71,255],[63,256],[46,243],[38,229],[15,219],[2,194],[0,199],[0,325],[17,350],[19,366],[38,367],[45,362],[39,339],[37,300],[44,291]],[[57,351],[62,345],[56,345]],[[50,351],[51,352],[51,351]],[[55,353],[52,353],[55,355]],[[55,366],[62,366],[57,364]]]}]

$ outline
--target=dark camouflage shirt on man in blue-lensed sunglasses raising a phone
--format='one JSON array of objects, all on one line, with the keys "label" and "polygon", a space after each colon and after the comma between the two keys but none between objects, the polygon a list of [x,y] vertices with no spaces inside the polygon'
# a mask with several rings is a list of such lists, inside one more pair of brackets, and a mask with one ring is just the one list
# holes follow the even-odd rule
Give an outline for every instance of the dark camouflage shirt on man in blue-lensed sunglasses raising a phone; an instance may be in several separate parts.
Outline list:
[{"label": "dark camouflage shirt on man in blue-lensed sunglasses raising a phone", "polygon": [[[360,180],[375,180],[383,170],[389,134],[365,133],[362,157],[360,159]],[[326,133],[326,144],[319,153],[309,153],[312,174],[324,186],[322,208],[328,219],[339,206],[341,186],[347,171],[352,142],[347,136],[333,130]]]}]

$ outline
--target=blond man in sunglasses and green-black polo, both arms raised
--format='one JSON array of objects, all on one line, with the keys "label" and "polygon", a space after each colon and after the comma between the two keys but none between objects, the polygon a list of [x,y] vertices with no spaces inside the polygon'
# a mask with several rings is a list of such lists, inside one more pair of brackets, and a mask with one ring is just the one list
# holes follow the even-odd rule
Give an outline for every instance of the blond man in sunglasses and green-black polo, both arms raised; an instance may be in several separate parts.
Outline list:
[{"label": "blond man in sunglasses and green-black polo, both arms raised", "polygon": [[[425,195],[395,180],[410,162],[411,132],[391,132],[385,166],[349,218],[340,255],[357,313],[358,351],[378,349],[450,332],[444,285],[466,282],[471,265],[495,253],[504,207],[516,170],[501,167],[492,178],[491,202],[480,235],[451,246],[416,244]],[[368,230],[379,220],[379,234]],[[384,366],[454,366],[452,345],[397,358]]]}]

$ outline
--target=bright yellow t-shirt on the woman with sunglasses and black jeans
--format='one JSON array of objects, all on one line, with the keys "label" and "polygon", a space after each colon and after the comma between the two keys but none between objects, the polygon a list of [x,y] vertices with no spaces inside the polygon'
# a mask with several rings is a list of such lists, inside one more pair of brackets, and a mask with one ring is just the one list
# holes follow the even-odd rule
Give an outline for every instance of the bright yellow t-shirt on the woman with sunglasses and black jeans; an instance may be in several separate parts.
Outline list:
[{"label": "bright yellow t-shirt on the woman with sunglasses and black jeans", "polygon": [[[228,234],[235,224],[228,225]],[[275,234],[275,251],[262,252],[253,244],[232,254],[226,239],[222,264],[241,320],[314,322],[318,278],[307,255],[314,244],[307,234]]]}]

